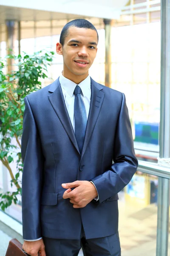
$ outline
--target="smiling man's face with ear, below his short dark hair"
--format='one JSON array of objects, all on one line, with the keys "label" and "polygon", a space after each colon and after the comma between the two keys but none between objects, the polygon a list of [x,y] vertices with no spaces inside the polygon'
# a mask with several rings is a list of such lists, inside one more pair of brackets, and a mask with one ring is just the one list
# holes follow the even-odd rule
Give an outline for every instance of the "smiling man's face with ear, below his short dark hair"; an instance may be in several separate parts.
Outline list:
[{"label": "smiling man's face with ear, below his short dark hair", "polygon": [[70,27],[64,46],[57,43],[63,55],[63,73],[67,76],[87,76],[97,52],[97,33],[92,29]]}]

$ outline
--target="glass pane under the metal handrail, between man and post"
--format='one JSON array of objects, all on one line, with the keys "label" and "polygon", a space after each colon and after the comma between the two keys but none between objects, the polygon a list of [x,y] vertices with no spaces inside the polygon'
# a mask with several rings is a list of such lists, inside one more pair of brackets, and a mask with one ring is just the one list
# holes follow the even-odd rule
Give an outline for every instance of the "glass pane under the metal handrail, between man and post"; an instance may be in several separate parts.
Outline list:
[{"label": "glass pane under the metal handrail, between man and post", "polygon": [[155,256],[158,178],[143,173],[119,193],[119,236],[123,256]]}]

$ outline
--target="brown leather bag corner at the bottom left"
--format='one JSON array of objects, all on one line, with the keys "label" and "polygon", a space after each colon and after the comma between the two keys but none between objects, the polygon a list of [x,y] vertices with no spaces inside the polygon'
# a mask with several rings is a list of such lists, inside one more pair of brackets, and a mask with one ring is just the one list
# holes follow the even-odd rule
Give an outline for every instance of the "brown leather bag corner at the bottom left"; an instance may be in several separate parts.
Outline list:
[{"label": "brown leather bag corner at the bottom left", "polygon": [[22,250],[22,247],[23,245],[17,239],[11,239],[6,251],[6,256],[28,256],[28,254]]}]

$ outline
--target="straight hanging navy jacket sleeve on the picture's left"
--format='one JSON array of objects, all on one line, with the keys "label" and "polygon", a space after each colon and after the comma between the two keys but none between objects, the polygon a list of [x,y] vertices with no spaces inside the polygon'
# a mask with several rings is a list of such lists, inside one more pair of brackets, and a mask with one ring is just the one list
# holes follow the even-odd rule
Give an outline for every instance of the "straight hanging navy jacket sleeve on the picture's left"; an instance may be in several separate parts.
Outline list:
[{"label": "straight hanging navy jacket sleeve on the picture's left", "polygon": [[40,230],[40,199],[43,155],[31,106],[27,97],[23,116],[21,154],[24,162],[22,177],[23,239],[38,239]]}]

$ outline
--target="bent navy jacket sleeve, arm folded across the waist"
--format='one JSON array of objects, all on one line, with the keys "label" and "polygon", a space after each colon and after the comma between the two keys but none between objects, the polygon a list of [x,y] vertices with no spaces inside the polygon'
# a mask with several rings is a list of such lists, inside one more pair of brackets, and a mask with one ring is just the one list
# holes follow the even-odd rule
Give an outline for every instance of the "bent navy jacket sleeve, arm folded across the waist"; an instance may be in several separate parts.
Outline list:
[{"label": "bent navy jacket sleeve, arm folded across the waist", "polygon": [[107,201],[120,192],[130,182],[138,166],[124,94],[116,125],[113,162],[109,170],[91,179],[96,186],[99,203]]}]

